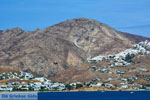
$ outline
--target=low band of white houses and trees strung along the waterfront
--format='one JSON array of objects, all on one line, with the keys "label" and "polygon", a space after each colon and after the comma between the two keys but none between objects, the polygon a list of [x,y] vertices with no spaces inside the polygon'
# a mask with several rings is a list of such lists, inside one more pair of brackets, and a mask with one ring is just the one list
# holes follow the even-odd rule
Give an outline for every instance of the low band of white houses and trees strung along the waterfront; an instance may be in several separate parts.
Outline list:
[{"label": "low band of white houses and trees strung along the waterfront", "polygon": [[[14,80],[13,79],[11,80],[9,75],[10,77],[13,76]],[[87,82],[87,83],[75,82],[75,83],[70,83],[70,84],[63,84],[63,83],[58,83],[58,82],[52,82],[51,80],[48,80],[45,77],[34,77],[32,74],[25,73],[25,72],[20,72],[20,74],[2,73],[0,74],[0,77],[3,77],[3,79],[5,80],[10,80],[10,81],[7,81],[5,85],[0,83],[0,91],[44,91],[44,90],[45,91],[63,91],[63,90],[78,89],[78,88],[82,88],[83,86],[86,86],[87,88],[105,87],[108,89],[121,88],[121,89],[140,90],[140,87],[142,87],[141,84],[136,84],[136,83],[134,83],[134,86],[132,87],[128,86],[129,81],[137,80],[134,77],[120,78],[119,80],[121,80],[122,82],[119,83],[120,85],[118,86],[115,86],[109,82],[108,83],[102,82],[101,79],[99,78],[92,79],[90,82]],[[18,80],[16,80],[16,78]],[[106,80],[114,81],[114,79],[112,78],[109,78]],[[147,80],[150,80],[150,79],[147,79]]]}]

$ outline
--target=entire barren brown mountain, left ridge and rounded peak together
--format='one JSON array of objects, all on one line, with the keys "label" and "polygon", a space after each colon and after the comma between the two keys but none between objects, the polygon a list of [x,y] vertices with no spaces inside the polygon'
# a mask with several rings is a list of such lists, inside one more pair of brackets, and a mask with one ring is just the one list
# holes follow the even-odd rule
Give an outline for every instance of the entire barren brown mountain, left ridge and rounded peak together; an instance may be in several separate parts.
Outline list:
[{"label": "entire barren brown mountain, left ridge and rounded peak together", "polygon": [[[96,74],[90,75],[82,67],[87,59],[118,53],[143,40],[150,39],[86,18],[67,20],[43,30],[24,31],[16,27],[0,32],[0,65],[54,80],[65,80],[78,73],[91,78]],[[72,75],[66,75],[67,72]]]}]

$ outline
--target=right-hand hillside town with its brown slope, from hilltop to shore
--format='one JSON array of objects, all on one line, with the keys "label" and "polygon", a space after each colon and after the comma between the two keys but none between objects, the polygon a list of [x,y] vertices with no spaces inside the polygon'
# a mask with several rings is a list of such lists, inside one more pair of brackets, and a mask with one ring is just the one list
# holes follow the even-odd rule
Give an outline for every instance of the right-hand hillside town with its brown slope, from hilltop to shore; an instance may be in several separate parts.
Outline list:
[{"label": "right-hand hillside town with its brown slope, from hilltop to shore", "polygon": [[[117,75],[115,78],[104,79],[98,84],[120,90],[150,90],[150,66],[140,66],[139,61],[134,61],[136,58],[149,54],[150,42],[146,40],[118,54],[96,56],[88,59],[88,62],[93,64],[89,67],[96,72],[107,73],[112,77],[114,74]],[[132,67],[132,65],[137,65],[137,67]]]}]

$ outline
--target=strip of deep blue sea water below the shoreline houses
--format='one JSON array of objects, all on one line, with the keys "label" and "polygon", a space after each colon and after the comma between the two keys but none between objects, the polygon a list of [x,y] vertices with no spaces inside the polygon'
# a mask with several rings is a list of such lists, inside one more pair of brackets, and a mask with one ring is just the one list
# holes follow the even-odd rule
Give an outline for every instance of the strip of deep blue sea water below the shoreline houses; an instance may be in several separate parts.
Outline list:
[{"label": "strip of deep blue sea water below the shoreline houses", "polygon": [[38,100],[150,100],[150,91],[41,92]]}]

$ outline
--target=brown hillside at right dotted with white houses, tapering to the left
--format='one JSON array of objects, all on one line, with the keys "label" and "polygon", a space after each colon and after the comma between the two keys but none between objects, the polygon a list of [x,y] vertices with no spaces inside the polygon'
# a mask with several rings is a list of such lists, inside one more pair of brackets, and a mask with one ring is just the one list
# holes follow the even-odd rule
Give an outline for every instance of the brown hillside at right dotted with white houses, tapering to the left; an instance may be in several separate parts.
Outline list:
[{"label": "brown hillside at right dotted with white houses, tapering to the left", "polygon": [[[52,80],[60,82],[90,82],[100,79],[101,83],[120,87],[150,85],[150,42],[144,41],[120,53],[96,56],[81,64],[80,69],[68,68]],[[138,84],[138,85],[137,85]]]}]

